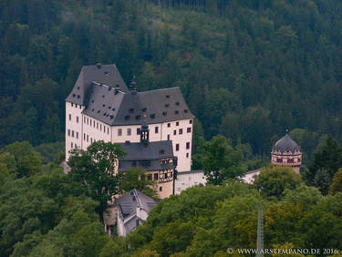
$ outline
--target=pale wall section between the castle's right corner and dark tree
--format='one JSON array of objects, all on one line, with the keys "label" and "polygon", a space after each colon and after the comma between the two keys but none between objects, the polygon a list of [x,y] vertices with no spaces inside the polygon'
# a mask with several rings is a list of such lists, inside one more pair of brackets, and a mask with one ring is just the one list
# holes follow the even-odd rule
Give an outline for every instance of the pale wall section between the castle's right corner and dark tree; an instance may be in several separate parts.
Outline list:
[{"label": "pale wall section between the castle's right corner and dark tree", "polygon": [[200,184],[205,185],[207,182],[202,170],[178,173],[177,180],[174,181],[174,193],[180,194],[182,190],[186,190]]}]

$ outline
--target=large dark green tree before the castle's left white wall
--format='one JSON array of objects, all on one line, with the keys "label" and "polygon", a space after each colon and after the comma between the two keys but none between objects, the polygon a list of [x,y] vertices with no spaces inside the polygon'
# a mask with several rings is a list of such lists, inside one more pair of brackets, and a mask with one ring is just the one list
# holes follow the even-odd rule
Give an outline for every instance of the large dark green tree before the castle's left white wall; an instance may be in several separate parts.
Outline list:
[{"label": "large dark green tree before the castle's left white wall", "polygon": [[117,158],[124,155],[118,144],[97,141],[87,150],[73,149],[68,164],[69,180],[83,188],[86,195],[99,202],[100,221],[109,206],[109,200],[119,192],[120,174],[115,174]]}]

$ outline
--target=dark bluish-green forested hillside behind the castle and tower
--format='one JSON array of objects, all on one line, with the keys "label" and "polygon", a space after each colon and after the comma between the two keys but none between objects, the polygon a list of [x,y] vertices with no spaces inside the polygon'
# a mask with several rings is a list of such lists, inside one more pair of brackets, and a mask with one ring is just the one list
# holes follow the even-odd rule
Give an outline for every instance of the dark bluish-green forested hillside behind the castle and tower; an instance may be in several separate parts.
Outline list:
[{"label": "dark bluish-green forested hillside behind the castle and tower", "polygon": [[65,98],[84,65],[115,63],[139,90],[181,87],[200,136],[269,158],[285,129],[312,160],[341,141],[338,0],[4,0],[0,146],[64,141]]}]

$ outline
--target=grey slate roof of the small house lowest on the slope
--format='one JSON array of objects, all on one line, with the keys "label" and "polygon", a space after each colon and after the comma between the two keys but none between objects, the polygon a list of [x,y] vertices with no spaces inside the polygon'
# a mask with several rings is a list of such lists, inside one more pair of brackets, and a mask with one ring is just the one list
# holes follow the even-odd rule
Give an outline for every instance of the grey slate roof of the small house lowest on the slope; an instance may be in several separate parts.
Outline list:
[{"label": "grey slate roof of the small house lowest on the slope", "polygon": [[157,202],[155,200],[136,189],[130,190],[116,200],[119,215],[122,218],[127,218],[136,214],[137,208],[141,208],[149,212],[156,203]]}]

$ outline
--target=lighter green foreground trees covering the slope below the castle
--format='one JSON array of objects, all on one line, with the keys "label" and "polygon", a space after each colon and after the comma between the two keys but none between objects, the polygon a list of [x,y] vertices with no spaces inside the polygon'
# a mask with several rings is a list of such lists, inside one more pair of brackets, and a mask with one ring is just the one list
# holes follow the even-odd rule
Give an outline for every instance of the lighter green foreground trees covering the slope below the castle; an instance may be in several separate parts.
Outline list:
[{"label": "lighter green foreground trees covering the slope below the castle", "polygon": [[[98,141],[88,153],[98,156],[108,149],[121,151],[118,145]],[[146,180],[139,179],[141,170],[131,173],[130,180],[124,178],[122,184],[107,178],[114,185],[109,186],[104,173],[94,176],[91,172],[107,162],[106,158],[89,165],[88,153],[85,159],[71,157],[73,170],[66,175],[57,165],[63,156],[43,165],[28,142],[0,149],[1,256],[251,256],[236,250],[256,247],[259,208],[264,210],[265,249],[329,249],[325,256],[341,256],[342,169],[326,192],[322,191],[325,187],[307,185],[306,177],[288,167],[265,167],[252,185],[236,179],[219,185],[210,181],[161,200],[144,224],[122,238],[115,231],[109,237],[99,216],[106,210],[102,204],[110,198],[107,189],[152,192],[146,190]],[[316,167],[342,166],[337,162],[341,158],[334,162],[333,152],[329,156],[322,163],[316,155]],[[87,170],[82,169],[85,163]],[[80,182],[84,180],[86,187]],[[101,196],[101,190],[95,189],[103,187],[103,182],[107,185]],[[235,252],[228,254],[227,249]]]}]

